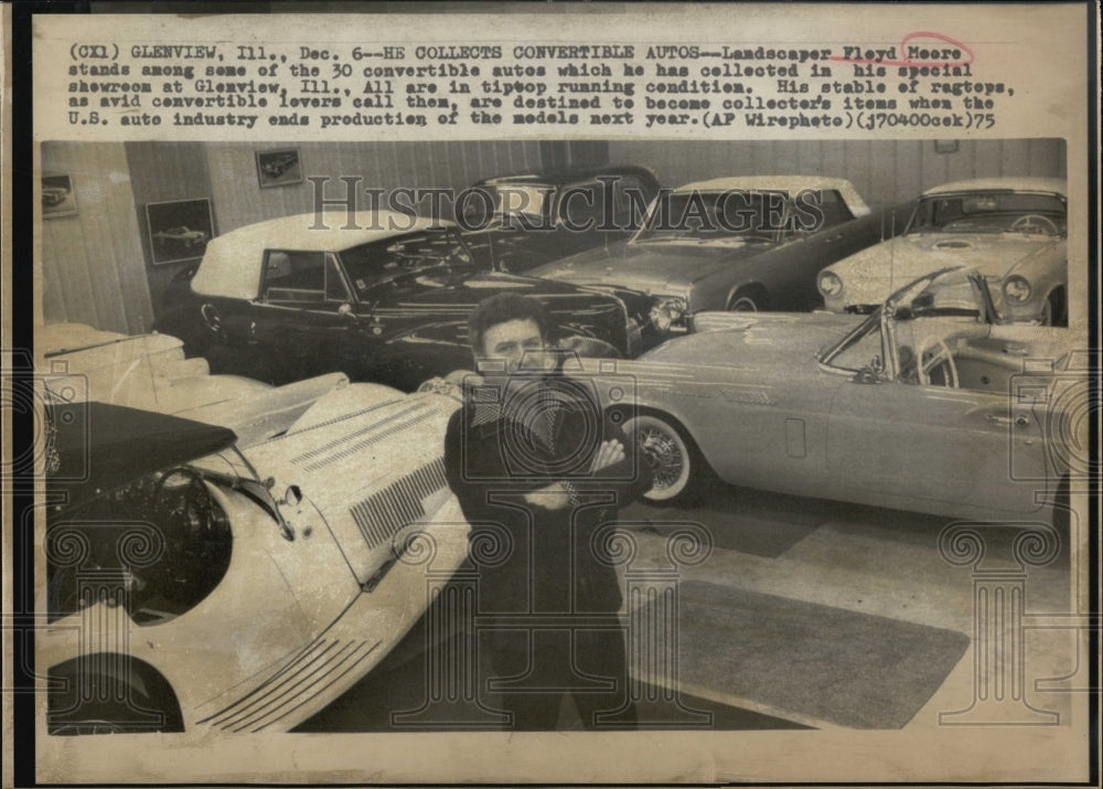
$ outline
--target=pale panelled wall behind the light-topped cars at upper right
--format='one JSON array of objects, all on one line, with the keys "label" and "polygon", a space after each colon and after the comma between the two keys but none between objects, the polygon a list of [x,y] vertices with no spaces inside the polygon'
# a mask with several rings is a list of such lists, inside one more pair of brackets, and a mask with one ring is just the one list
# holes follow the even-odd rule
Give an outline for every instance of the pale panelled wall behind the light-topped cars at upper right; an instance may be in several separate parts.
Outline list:
[{"label": "pale panelled wall behind the light-topped cars at upper right", "polygon": [[670,188],[724,175],[834,175],[849,180],[874,207],[967,178],[1065,178],[1060,139],[961,140],[954,153],[935,153],[932,140],[622,140],[609,143],[609,161],[645,164]]}]

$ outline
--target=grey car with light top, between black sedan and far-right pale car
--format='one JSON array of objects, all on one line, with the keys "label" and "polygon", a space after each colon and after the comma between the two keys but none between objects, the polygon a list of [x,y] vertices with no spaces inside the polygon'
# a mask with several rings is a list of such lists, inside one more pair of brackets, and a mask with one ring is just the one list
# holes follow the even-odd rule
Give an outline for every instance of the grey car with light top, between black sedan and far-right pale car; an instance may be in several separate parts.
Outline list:
[{"label": "grey car with light top, between black sedan and far-right pale car", "polygon": [[811,310],[816,274],[891,234],[897,214],[871,212],[845,179],[720,178],[661,194],[623,244],[565,257],[533,276],[620,286],[653,298],[656,327],[684,330],[703,310]]}]

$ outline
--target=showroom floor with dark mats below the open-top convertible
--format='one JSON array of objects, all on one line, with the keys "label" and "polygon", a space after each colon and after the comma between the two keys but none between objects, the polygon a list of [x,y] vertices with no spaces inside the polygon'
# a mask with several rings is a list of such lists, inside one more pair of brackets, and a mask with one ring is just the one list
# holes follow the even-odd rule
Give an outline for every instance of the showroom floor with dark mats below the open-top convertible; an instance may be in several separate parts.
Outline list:
[{"label": "showroom floor with dark mats below the open-top convertible", "polygon": [[[667,696],[676,687],[678,706],[693,713],[689,725],[900,728],[1069,714],[1070,695],[1052,689],[1070,683],[1050,682],[1049,691],[1045,683],[1078,668],[1077,631],[1065,627],[1075,582],[1067,519],[1058,519],[1058,550],[1042,566],[1007,561],[1018,532],[1004,526],[979,530],[979,564],[955,565],[939,550],[946,519],[728,486],[706,498],[707,505],[633,504],[621,512],[636,544],[631,578],[677,589],[677,616],[664,620],[662,611],[645,610],[661,605],[654,596],[633,595],[630,583],[627,620],[650,622],[633,675],[645,690],[667,686]],[[707,531],[713,547],[703,562],[681,564],[672,584],[660,571],[674,566],[671,555],[685,555],[668,553],[668,535],[688,524]],[[986,610],[981,600],[998,612],[998,595],[1013,587],[1024,593],[1021,609],[1008,603],[1003,620],[975,614]],[[1020,612],[1021,620],[1011,618]],[[975,621],[1002,621],[1010,651],[974,650]],[[631,652],[631,625],[628,632]],[[679,662],[664,663],[673,643]],[[300,731],[393,731],[387,711],[417,706],[421,673],[418,660],[385,661]],[[649,707],[641,719],[649,715],[663,727],[665,712]],[[579,726],[569,704],[559,725]]]}]

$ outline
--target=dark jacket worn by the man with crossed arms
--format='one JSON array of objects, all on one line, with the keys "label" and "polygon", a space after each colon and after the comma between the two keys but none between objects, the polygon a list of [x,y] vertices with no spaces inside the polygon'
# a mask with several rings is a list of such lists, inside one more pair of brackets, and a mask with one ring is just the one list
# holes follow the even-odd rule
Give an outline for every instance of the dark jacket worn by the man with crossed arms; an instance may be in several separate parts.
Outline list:
[{"label": "dark jacket worn by the man with crossed arms", "polygon": [[[472,524],[480,612],[586,615],[621,606],[606,539],[618,508],[650,488],[652,472],[634,440],[601,413],[592,386],[554,374],[504,397],[471,387],[449,422],[445,465]],[[624,460],[591,475],[610,438],[623,444]],[[525,493],[556,481],[574,489],[576,503],[549,510],[525,502]]]}]

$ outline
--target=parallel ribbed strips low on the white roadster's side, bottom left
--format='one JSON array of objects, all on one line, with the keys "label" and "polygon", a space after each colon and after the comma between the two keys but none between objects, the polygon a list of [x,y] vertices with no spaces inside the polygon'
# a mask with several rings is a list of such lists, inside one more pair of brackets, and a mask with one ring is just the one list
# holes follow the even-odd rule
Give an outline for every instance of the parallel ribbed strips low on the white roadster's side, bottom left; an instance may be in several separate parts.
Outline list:
[{"label": "parallel ribbed strips low on the white roadster's side, bottom left", "polygon": [[227,732],[260,732],[356,671],[378,646],[319,638],[258,687],[199,723]]}]

